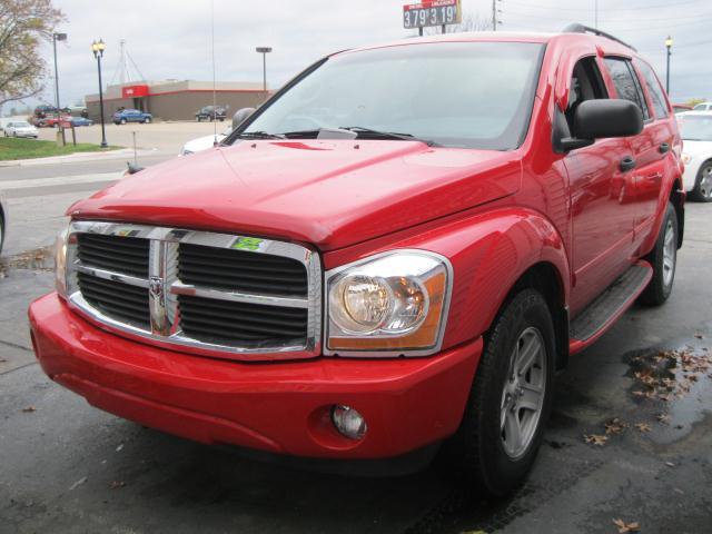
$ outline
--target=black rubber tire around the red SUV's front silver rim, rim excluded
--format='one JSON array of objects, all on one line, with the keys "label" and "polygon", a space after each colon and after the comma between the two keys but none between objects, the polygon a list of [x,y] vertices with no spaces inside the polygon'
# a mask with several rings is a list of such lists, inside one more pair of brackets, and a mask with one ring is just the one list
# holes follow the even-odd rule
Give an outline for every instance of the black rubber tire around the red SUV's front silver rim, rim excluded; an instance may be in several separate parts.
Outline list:
[{"label": "black rubber tire around the red SUV's front silver rim, rim excluded", "polygon": [[[515,347],[527,332],[538,332],[543,347],[538,367],[544,380],[541,395],[541,412],[531,425],[528,439],[523,451],[513,457],[505,451],[506,419],[504,414],[516,414],[518,409],[504,408],[506,387],[514,374],[511,365]],[[534,289],[516,294],[503,307],[493,328],[485,335],[485,348],[477,367],[465,414],[457,433],[445,444],[444,461],[451,474],[464,478],[468,487],[483,495],[504,496],[515,490],[534,463],[544,436],[551,413],[554,386],[555,336],[551,313],[544,297]],[[532,366],[535,369],[536,366]],[[508,406],[508,404],[507,404]]]}]

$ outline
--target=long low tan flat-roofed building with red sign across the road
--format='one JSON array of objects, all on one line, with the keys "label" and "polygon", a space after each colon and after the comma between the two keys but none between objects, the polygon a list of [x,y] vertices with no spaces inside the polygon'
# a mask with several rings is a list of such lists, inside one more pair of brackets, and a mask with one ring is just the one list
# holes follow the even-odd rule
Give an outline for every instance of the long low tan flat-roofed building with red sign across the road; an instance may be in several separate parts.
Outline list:
[{"label": "long low tan flat-roofed building with red sign across the road", "polygon": [[[228,108],[228,119],[240,108],[255,108],[265,101],[259,82],[217,82],[216,103]],[[269,92],[269,91],[268,91]],[[99,95],[87,95],[89,118],[99,120]],[[103,117],[107,122],[119,108],[147,111],[155,119],[192,120],[204,106],[212,105],[212,82],[194,80],[139,81],[107,87]]]}]

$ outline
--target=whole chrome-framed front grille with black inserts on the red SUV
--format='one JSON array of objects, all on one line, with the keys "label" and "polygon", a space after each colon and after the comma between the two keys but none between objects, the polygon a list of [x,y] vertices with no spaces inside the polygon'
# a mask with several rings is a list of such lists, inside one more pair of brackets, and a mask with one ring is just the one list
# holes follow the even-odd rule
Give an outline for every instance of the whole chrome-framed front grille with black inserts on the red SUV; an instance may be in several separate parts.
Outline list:
[{"label": "whole chrome-framed front grille with black inserts on the red SUV", "polygon": [[70,305],[115,333],[243,359],[320,350],[320,263],[300,245],[75,221],[67,259]]}]

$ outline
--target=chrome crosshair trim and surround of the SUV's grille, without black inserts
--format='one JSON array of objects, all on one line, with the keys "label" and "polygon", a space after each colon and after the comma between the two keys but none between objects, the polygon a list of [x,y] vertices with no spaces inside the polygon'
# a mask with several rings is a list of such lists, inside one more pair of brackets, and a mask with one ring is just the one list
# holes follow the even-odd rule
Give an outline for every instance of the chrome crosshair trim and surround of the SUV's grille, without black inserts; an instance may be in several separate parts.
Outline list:
[{"label": "chrome crosshair trim and surround of the SUV's grille, without black inserts", "polygon": [[[149,239],[148,278],[137,278],[81,264],[77,255],[77,234],[100,234]],[[247,241],[246,241],[247,240]],[[308,280],[306,298],[278,295],[253,295],[196,287],[178,278],[178,247],[181,243],[215,248],[238,248],[253,254],[266,254],[295,259],[305,266]],[[248,243],[251,248],[235,247]],[[247,238],[239,235],[185,230],[105,221],[72,221],[69,226],[67,253],[67,288],[69,306],[100,328],[115,334],[165,348],[231,359],[296,359],[313,357],[322,350],[322,263],[316,251],[301,245],[271,239]],[[131,286],[146,288],[149,295],[151,326],[136,327],[107,316],[83,298],[77,285],[77,273],[96,276]],[[187,336],[180,329],[178,295],[190,295],[216,300],[240,301],[266,306],[307,309],[304,339],[265,346],[246,343],[244,346],[214,345]],[[303,342],[303,343],[301,343]],[[260,356],[261,355],[261,356]]]}]

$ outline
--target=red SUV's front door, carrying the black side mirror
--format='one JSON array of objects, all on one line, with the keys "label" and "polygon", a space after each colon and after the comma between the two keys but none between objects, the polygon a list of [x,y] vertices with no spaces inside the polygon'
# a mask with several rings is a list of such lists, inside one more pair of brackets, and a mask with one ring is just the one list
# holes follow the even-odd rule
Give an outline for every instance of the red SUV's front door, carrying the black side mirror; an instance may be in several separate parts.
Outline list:
[{"label": "red SUV's front door, carrying the black side mirror", "polygon": [[[571,77],[565,119],[575,137],[576,107],[591,99],[609,98],[609,88],[595,56],[580,58]],[[629,202],[630,157],[625,139],[599,139],[572,150],[564,158],[570,181],[572,215],[572,314],[575,315],[627,266],[632,253],[634,206]]]}]

